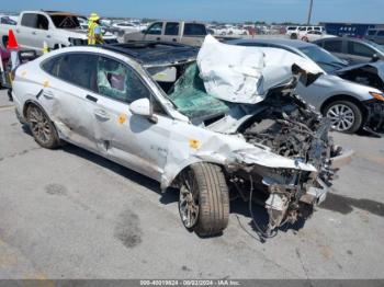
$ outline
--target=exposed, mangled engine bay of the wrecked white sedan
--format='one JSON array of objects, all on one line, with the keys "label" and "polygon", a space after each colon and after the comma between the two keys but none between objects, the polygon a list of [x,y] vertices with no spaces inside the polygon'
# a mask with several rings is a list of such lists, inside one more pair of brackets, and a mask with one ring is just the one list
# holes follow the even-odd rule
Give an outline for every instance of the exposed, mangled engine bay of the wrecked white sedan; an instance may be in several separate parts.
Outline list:
[{"label": "exposed, mangled engine bay of the wrecked white sedan", "polygon": [[[268,186],[267,191],[259,186],[268,196],[264,205],[269,214],[267,230],[260,232],[270,237],[279,227],[309,217],[313,206],[325,199],[336,172],[330,158],[339,156],[341,148],[336,148],[328,136],[330,122],[294,95],[292,89],[272,90],[260,105],[262,112],[241,130],[246,140],[267,146],[273,152],[295,161],[310,163],[318,171],[257,170],[259,174],[264,173],[261,182],[264,187]],[[253,171],[249,170],[250,173]],[[251,177],[241,176],[235,176],[235,182],[246,183],[252,192],[256,183],[250,182]],[[250,199],[253,199],[252,195]]]}]

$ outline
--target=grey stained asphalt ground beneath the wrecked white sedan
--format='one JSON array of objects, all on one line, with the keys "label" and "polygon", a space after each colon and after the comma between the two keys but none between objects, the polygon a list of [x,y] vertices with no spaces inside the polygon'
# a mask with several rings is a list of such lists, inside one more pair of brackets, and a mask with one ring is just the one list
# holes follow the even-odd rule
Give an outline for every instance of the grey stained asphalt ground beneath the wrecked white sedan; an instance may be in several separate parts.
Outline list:
[{"label": "grey stained asphalt ground beneath the wrecked white sedan", "polygon": [[355,154],[304,226],[260,242],[236,200],[224,234],[199,238],[174,191],[70,145],[41,148],[2,90],[0,278],[383,278],[384,138],[332,136]]}]

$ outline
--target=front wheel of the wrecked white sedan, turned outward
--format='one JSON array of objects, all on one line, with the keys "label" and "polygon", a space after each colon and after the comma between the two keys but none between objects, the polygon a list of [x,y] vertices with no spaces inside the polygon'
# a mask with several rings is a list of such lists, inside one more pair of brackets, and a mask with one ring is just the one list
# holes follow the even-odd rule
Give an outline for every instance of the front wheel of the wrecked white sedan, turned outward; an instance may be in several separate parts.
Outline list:
[{"label": "front wheel of the wrecked white sedan, turned outward", "polygon": [[184,227],[201,237],[222,233],[228,226],[229,192],[221,167],[195,163],[182,172],[179,213]]}]

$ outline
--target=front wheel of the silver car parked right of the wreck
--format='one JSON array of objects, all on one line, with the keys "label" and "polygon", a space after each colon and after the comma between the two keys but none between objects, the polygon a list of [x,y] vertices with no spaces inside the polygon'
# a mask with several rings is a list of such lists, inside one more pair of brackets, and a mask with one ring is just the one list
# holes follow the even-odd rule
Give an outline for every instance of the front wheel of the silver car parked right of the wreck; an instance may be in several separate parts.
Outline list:
[{"label": "front wheel of the silver car parked right of the wreck", "polygon": [[[339,115],[342,117],[339,118]],[[346,134],[357,133],[363,124],[363,113],[361,108],[355,103],[347,100],[329,103],[324,108],[324,116],[330,118],[332,127],[336,130]],[[345,124],[342,124],[342,122]]]}]

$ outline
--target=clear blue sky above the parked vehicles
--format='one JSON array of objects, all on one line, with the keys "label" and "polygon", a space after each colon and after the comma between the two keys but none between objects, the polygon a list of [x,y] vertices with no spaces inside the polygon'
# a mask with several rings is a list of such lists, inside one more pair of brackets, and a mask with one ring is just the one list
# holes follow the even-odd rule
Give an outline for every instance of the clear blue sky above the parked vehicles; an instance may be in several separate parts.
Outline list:
[{"label": "clear blue sky above the parked vehicles", "polygon": [[[104,16],[306,22],[309,0],[1,0],[1,11],[65,10]],[[384,23],[384,0],[314,0],[313,21]]]}]

